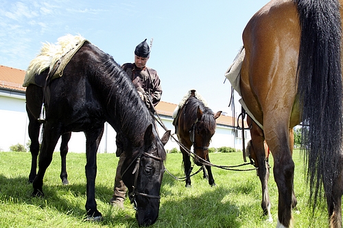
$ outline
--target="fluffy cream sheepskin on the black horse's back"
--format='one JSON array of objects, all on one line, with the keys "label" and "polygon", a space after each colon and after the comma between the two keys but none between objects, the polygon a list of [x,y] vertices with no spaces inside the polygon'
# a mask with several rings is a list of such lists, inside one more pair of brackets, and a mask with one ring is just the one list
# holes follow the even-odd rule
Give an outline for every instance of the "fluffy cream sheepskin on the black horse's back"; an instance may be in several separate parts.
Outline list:
[{"label": "fluffy cream sheepskin on the black horse's back", "polygon": [[69,60],[73,55],[84,45],[84,42],[89,42],[82,36],[72,36],[67,34],[58,38],[56,44],[49,42],[43,43],[40,53],[30,63],[25,73],[25,79],[23,86],[29,86],[29,84],[35,84],[34,75],[38,75],[45,71],[45,69],[54,68],[56,62],[60,61],[58,69],[52,77],[62,77],[64,67],[67,66]]}]

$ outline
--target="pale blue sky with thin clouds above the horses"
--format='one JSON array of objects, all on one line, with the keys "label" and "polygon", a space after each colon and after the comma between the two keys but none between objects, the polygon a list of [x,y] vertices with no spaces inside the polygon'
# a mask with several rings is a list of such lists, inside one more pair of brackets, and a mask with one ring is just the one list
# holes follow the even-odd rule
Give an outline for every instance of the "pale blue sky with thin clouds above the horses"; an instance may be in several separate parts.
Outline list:
[{"label": "pale blue sky with thin clouds above the horses", "polygon": [[161,101],[178,104],[196,89],[213,112],[230,114],[231,86],[224,73],[243,45],[246,23],[266,3],[0,0],[0,65],[26,70],[42,42],[55,43],[66,34],[80,34],[124,64],[134,62],[140,42],[153,38],[147,66],[161,79]]}]

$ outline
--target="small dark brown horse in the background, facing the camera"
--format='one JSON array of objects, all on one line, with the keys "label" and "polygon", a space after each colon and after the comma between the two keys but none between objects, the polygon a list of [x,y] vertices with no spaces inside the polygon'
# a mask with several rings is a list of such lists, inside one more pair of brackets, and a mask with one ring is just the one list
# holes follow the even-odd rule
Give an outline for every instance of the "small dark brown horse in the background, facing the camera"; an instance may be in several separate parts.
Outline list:
[{"label": "small dark brown horse in the background, facing the camera", "polygon": [[[209,144],[215,134],[215,119],[220,116],[222,111],[214,114],[209,107],[206,107],[202,101],[196,99],[192,95],[185,101],[185,104],[179,110],[178,114],[178,140],[187,149],[193,146],[194,153],[203,160],[210,161]],[[189,154],[183,147],[180,147],[183,157],[183,165],[186,175],[186,187],[191,186],[191,160]],[[202,163],[195,159],[198,166]],[[211,166],[205,166],[204,178],[209,179],[209,184],[215,186]]]}]

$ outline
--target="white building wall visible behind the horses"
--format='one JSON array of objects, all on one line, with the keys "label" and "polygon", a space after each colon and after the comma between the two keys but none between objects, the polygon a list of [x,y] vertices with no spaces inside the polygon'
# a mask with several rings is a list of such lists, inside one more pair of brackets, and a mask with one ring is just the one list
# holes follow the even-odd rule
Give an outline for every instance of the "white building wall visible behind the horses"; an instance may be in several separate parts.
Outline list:
[{"label": "white building wall visible behind the horses", "polygon": [[[0,151],[10,151],[10,146],[18,143],[26,145],[29,141],[27,134],[29,120],[25,110],[25,94],[3,91],[0,90]],[[172,125],[172,119],[170,117],[161,118],[165,127],[170,129],[171,133],[174,134],[175,129],[174,125]],[[165,130],[158,123],[157,125],[158,133],[162,137]],[[107,151],[107,153],[115,153],[117,149],[115,136],[115,130],[108,123],[105,123],[104,136],[100,142],[98,152],[104,153]],[[250,138],[249,133],[246,136]],[[177,139],[177,136],[174,135],[174,138]],[[84,153],[86,151],[86,138],[84,133],[73,132],[68,146],[71,152]],[[179,149],[175,140],[169,138],[169,141],[165,144],[165,149],[170,150],[175,147]],[[236,149],[242,149],[241,139],[235,137],[232,128],[224,125],[217,126],[210,147],[234,147]],[[55,151],[60,151],[60,140],[56,144]]]}]

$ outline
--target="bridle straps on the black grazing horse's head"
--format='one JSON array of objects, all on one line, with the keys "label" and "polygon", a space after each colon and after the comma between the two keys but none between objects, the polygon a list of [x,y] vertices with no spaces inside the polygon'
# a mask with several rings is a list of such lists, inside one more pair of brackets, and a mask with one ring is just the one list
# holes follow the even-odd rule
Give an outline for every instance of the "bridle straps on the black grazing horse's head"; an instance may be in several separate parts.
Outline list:
[{"label": "bridle straps on the black grazing horse's head", "polygon": [[123,175],[125,175],[126,171],[128,171],[130,166],[132,166],[132,164],[134,164],[134,161],[136,161],[136,165],[134,166],[134,170],[132,171],[132,174],[134,174],[134,182],[133,182],[133,186],[132,186],[132,192],[130,192],[130,194],[129,194],[130,201],[131,201],[131,203],[134,203],[134,209],[135,210],[137,210],[136,196],[147,197],[147,198],[152,198],[152,199],[161,199],[161,197],[159,195],[156,196],[153,194],[146,194],[146,193],[137,191],[137,179],[138,179],[138,175],[139,175],[139,166],[141,164],[142,155],[150,157],[150,158],[152,158],[158,162],[163,162],[161,157],[156,157],[155,155],[147,153],[147,151],[143,151],[143,153],[139,153],[139,155],[137,155],[137,157],[134,160],[132,160],[132,162],[128,165],[128,167],[123,171],[123,174],[121,175],[121,177],[123,177]]}]

